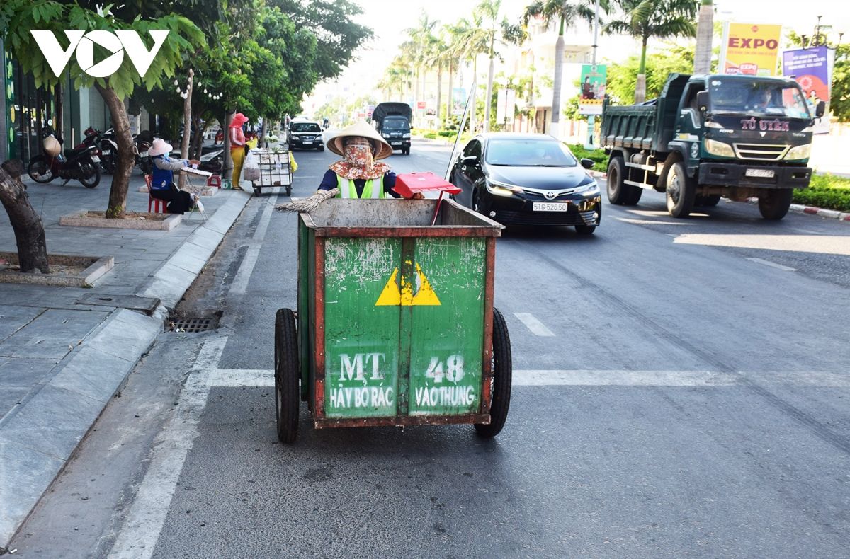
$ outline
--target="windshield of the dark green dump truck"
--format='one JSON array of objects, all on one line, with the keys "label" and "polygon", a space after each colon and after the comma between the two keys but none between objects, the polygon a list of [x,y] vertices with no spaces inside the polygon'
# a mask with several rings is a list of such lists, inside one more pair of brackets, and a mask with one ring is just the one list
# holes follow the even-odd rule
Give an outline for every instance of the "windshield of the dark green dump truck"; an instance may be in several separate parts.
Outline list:
[{"label": "windshield of the dark green dump truck", "polygon": [[795,84],[743,80],[711,80],[711,112],[753,116],[811,118],[806,99]]}]

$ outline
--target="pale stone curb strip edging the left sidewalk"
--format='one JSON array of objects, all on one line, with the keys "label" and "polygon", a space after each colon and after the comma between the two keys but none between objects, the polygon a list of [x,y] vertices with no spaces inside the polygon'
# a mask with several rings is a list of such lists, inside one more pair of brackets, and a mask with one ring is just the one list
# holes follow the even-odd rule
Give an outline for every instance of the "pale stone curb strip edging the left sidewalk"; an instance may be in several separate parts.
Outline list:
[{"label": "pale stone curb strip edging the left sidewalk", "polygon": [[[118,308],[75,347],[60,369],[0,426],[0,549],[29,517],[173,308],[218,249],[251,195],[234,195],[195,229],[139,296],[158,297],[152,316]],[[39,436],[32,437],[37,431]]]}]

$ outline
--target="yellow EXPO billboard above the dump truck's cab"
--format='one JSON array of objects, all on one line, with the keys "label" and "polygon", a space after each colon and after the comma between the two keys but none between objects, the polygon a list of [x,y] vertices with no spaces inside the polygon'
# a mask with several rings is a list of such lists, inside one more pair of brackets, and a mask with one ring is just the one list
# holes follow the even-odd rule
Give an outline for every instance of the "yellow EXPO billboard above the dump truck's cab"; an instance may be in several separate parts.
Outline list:
[{"label": "yellow EXPO billboard above the dump truck's cab", "polygon": [[720,73],[775,76],[781,35],[782,25],[727,21],[720,44]]}]

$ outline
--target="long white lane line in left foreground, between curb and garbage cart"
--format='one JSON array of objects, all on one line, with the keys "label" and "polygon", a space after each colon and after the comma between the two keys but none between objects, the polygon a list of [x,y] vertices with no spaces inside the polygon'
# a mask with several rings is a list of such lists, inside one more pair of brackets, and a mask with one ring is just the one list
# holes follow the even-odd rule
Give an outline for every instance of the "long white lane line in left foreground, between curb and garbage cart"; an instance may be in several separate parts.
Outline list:
[{"label": "long white lane line in left foreground, between curb and garbage cart", "polygon": [[180,392],[166,428],[154,443],[154,455],[109,556],[111,559],[149,559],[171,508],[171,500],[186,455],[198,436],[198,421],[207,405],[208,377],[224,351],[227,336],[208,340]]}]

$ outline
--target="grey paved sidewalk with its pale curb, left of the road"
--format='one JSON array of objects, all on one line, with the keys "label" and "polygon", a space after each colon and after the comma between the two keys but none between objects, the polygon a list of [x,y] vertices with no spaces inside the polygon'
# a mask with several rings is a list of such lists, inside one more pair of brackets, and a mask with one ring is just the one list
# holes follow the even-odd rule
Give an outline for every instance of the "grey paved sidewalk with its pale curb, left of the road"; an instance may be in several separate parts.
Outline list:
[{"label": "grey paved sidewalk with its pale curb, left of the road", "polygon": [[[112,256],[92,289],[0,283],[0,548],[7,545],[77,444],[162,331],[173,308],[250,199],[204,196],[207,222],[186,214],[171,231],[65,227],[59,217],[105,210],[111,176],[95,189],[26,179],[48,253]],[[133,174],[127,209],[146,212]],[[0,251],[17,251],[0,216]]]}]

